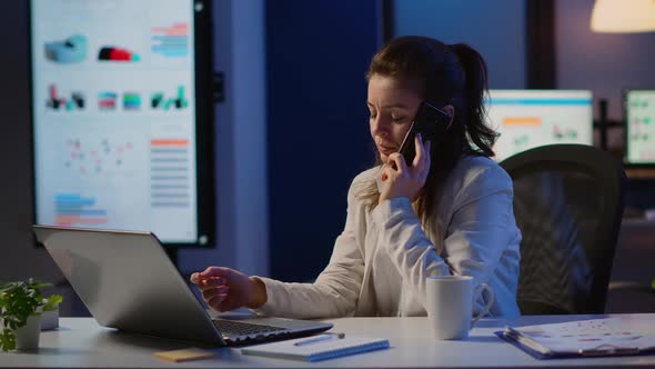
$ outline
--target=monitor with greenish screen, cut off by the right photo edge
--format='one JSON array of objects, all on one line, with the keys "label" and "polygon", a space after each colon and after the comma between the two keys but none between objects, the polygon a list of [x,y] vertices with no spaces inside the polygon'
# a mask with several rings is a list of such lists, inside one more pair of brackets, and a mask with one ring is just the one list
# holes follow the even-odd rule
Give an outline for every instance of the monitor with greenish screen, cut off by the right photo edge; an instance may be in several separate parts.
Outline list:
[{"label": "monitor with greenish screen, cut off by the right photo edge", "polygon": [[625,90],[626,164],[655,164],[655,90]]}]

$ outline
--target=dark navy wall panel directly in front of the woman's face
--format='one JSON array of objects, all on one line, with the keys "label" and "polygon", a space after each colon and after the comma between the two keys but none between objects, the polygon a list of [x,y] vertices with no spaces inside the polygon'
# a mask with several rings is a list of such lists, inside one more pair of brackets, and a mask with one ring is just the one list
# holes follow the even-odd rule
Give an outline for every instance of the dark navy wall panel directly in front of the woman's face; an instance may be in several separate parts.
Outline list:
[{"label": "dark navy wall panel directly in front of the woman's face", "polygon": [[310,280],[372,163],[366,82],[381,1],[266,1],[271,275]]}]

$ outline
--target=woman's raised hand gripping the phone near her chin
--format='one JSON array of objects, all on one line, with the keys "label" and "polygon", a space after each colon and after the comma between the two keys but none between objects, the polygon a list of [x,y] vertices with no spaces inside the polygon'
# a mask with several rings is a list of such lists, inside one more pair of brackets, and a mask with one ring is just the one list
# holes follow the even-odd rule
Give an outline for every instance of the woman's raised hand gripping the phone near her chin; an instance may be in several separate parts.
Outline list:
[{"label": "woman's raised hand gripping the phone near her chin", "polygon": [[[405,163],[405,158],[400,152],[389,156],[389,161],[382,170],[381,179],[384,181],[382,192],[380,192],[380,202],[397,197],[406,197],[414,202],[419,192],[425,184],[427,173],[430,172],[430,148],[431,142],[423,142],[421,134],[414,138],[416,156],[411,167]],[[395,163],[395,168],[391,163]]]}]

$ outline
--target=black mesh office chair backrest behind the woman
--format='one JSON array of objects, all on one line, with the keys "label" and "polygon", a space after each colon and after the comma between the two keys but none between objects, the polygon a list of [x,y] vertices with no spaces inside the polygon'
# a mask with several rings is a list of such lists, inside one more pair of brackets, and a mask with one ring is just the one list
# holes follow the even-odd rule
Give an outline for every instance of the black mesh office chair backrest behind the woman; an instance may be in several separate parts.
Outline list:
[{"label": "black mesh office chair backrest behind the woman", "polygon": [[514,181],[524,315],[602,313],[623,217],[625,173],[584,144],[534,148],[501,166]]}]

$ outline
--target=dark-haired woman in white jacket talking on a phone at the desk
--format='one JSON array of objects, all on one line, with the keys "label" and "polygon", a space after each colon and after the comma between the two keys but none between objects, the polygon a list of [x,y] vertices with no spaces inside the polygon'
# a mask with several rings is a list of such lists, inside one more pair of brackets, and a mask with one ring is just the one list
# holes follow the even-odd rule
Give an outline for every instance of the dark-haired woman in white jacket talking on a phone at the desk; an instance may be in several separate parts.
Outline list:
[{"label": "dark-haired woman in white jacket talking on a phone at the desk", "polygon": [[[402,37],[374,56],[366,77],[380,166],[353,180],[345,228],[315,282],[285,283],[221,267],[191,280],[219,311],[245,306],[328,318],[425,316],[425,279],[465,275],[492,287],[493,316],[518,315],[521,233],[512,180],[488,158],[496,133],[484,123],[484,60],[466,44]],[[407,163],[397,151],[422,101],[447,112],[451,122],[435,144],[416,136],[416,156]]]}]

